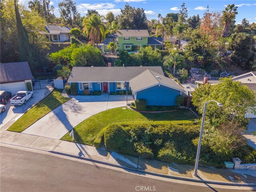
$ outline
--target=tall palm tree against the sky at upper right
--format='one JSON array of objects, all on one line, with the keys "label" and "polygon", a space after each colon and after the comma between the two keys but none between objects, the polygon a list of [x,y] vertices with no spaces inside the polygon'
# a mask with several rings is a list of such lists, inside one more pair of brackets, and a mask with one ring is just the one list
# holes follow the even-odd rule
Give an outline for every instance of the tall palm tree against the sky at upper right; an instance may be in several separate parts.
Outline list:
[{"label": "tall palm tree against the sky at upper right", "polygon": [[225,8],[224,11],[222,11],[222,20],[224,21],[223,31],[222,31],[222,37],[229,37],[230,33],[230,27],[232,24],[232,21],[236,18],[237,12],[237,6],[234,4],[230,5]]}]

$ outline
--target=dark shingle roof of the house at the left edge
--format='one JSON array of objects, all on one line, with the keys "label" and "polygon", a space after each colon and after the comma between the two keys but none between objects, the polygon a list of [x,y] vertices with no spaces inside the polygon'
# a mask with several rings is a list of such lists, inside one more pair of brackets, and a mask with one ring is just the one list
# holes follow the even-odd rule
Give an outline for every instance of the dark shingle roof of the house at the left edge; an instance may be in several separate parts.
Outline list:
[{"label": "dark shingle roof of the house at the left edge", "polygon": [[0,83],[20,82],[33,79],[28,62],[1,63]]}]

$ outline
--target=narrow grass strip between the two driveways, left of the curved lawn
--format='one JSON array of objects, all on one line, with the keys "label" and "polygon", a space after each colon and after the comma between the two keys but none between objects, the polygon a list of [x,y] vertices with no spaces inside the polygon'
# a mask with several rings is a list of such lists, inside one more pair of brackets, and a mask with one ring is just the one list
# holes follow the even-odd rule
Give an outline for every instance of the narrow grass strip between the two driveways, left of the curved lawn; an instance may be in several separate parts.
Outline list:
[{"label": "narrow grass strip between the two driveways, left of the curved lawn", "polygon": [[32,107],[28,112],[22,115],[14,124],[12,124],[8,131],[22,132],[38,119],[42,118],[64,102],[70,100],[61,96],[62,90],[55,89],[50,95]]}]

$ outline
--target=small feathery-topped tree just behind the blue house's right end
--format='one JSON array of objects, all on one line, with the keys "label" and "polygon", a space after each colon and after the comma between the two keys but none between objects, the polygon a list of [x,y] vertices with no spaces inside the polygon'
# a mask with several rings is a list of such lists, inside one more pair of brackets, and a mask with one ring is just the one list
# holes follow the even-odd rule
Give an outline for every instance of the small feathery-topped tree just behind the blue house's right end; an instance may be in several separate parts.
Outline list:
[{"label": "small feathery-topped tree just behind the blue house's right end", "polygon": [[164,65],[168,66],[169,68],[173,66],[173,76],[175,76],[176,66],[183,66],[184,62],[184,56],[175,52],[164,57]]}]

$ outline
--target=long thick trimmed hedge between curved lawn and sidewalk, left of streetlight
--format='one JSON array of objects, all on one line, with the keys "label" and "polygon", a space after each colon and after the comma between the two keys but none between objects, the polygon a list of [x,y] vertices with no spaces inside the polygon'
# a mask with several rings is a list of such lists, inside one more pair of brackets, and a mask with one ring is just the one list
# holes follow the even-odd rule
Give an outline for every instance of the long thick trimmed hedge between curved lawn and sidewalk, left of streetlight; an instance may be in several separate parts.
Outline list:
[{"label": "long thick trimmed hedge between curved lawn and sidewalk, left of streetlight", "polygon": [[132,122],[112,124],[104,131],[105,146],[144,158],[190,163],[196,158],[199,126],[191,123]]}]

